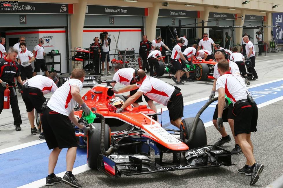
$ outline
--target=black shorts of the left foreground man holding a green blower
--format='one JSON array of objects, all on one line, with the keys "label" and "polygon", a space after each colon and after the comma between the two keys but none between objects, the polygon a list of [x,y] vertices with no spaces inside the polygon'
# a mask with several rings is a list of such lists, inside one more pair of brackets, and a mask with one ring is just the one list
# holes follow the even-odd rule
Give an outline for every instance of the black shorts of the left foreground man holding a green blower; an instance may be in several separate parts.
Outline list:
[{"label": "black shorts of the left foreground man holding a green blower", "polygon": [[68,116],[47,107],[41,116],[41,126],[49,150],[78,146],[75,128]]}]

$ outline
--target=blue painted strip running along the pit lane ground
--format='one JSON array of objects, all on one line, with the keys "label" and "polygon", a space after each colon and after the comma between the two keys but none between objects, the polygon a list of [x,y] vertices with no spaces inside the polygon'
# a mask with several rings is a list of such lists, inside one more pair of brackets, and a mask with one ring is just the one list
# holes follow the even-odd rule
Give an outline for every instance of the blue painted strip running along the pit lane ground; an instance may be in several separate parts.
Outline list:
[{"label": "blue painted strip running along the pit lane ground", "polygon": [[[249,88],[249,91],[252,92],[253,98],[259,105],[283,96],[283,80]],[[203,100],[184,106],[184,118],[194,117],[206,102],[207,100]],[[216,103],[212,103],[201,115],[204,123],[212,120]],[[175,129],[170,124],[168,111],[163,111],[162,122],[163,127]],[[1,187],[18,187],[45,178],[48,171],[47,165],[50,152],[51,150],[48,150],[46,143],[42,143],[1,154]],[[67,149],[63,149],[59,155],[55,174],[66,170],[66,152]],[[86,164],[86,148],[78,148],[74,168],[84,164]]]}]

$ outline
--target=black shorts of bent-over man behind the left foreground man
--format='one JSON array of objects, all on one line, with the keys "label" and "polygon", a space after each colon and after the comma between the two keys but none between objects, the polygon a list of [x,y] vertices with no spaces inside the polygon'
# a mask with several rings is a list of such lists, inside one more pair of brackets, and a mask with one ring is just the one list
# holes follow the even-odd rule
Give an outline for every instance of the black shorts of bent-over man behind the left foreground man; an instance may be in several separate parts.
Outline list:
[{"label": "black shorts of bent-over man behind the left foreground man", "polygon": [[31,112],[34,108],[38,113],[42,112],[41,107],[46,98],[43,96],[41,90],[31,88],[26,89],[25,86],[23,86],[21,95],[25,103],[25,107],[27,108],[27,112]]}]

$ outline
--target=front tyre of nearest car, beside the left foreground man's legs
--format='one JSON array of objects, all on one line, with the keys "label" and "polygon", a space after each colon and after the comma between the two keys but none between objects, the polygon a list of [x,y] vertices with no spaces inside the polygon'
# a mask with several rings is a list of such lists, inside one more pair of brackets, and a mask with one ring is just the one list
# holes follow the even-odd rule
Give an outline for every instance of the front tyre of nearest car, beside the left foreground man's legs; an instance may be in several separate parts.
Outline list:
[{"label": "front tyre of nearest car, beside the left foreground man's legs", "polygon": [[[93,126],[95,129],[91,129],[87,136],[87,165],[91,169],[97,168],[97,159],[100,152],[100,132],[101,132],[101,124],[94,123]],[[111,139],[111,131],[110,127],[105,124],[105,150],[107,151],[110,147],[110,139]]]}]

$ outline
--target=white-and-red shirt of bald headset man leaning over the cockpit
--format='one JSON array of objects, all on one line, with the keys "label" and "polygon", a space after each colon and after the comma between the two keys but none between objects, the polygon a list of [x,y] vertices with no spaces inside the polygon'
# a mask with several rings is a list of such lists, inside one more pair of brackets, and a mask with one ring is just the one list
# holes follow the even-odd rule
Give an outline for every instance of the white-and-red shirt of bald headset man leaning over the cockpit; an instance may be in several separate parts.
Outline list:
[{"label": "white-and-red shirt of bald headset man leaning over the cockpit", "polygon": [[137,87],[137,91],[143,92],[148,98],[164,106],[168,105],[168,100],[175,90],[172,85],[149,76],[145,77],[142,84],[137,84]]}]

